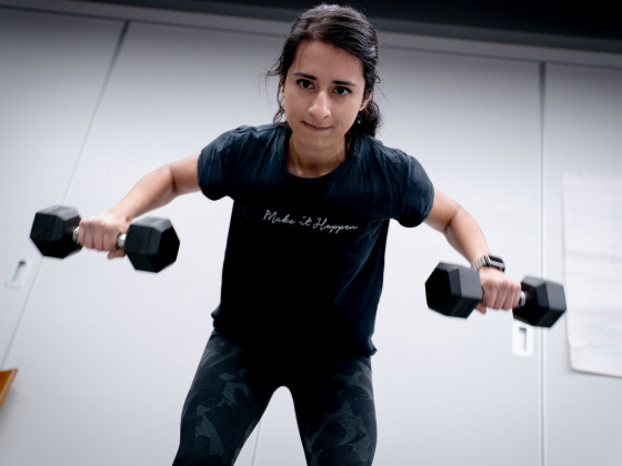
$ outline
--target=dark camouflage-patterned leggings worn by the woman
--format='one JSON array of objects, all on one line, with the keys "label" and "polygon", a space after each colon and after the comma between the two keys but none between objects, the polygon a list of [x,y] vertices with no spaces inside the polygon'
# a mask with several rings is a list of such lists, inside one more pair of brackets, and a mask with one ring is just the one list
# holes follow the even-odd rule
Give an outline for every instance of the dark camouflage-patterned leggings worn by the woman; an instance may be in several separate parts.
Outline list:
[{"label": "dark camouflage-patterned leggings worn by the woman", "polygon": [[287,386],[309,466],[371,465],[375,413],[369,357],[303,364],[249,355],[214,332],[185,399],[173,466],[233,465],[270,397]]}]

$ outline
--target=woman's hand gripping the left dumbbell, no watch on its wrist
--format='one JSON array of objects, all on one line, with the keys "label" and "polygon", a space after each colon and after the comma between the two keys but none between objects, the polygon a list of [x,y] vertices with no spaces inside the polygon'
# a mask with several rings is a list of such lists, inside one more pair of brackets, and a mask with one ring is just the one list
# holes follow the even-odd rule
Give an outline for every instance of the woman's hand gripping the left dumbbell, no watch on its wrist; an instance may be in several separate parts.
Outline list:
[{"label": "woman's hand gripping the left dumbbell, no watch on its wrist", "polygon": [[80,221],[78,243],[84,247],[108,251],[108,259],[123,257],[126,252],[117,247],[117,237],[128,231],[130,221],[123,215],[106,213]]}]

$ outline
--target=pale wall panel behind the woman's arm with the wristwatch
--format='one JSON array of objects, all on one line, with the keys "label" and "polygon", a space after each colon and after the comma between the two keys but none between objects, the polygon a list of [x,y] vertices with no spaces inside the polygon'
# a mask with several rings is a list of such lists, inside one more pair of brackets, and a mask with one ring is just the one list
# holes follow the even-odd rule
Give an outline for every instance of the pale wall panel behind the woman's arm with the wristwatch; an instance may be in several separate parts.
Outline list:
[{"label": "pale wall panel behind the woman's arm with the wristwatch", "polygon": [[[417,156],[474,215],[508,273],[536,274],[538,63],[391,47],[381,79],[380,139]],[[391,229],[373,358],[377,463],[538,464],[539,347],[512,353],[508,313],[454,320],[428,310],[437,263],[466,263],[428,226]]]}]

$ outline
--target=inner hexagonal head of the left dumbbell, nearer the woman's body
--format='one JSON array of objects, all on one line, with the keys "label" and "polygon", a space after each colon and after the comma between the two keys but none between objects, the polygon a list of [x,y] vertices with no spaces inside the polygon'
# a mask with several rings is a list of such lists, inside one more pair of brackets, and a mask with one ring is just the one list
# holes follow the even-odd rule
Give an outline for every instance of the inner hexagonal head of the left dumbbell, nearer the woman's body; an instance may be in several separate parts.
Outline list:
[{"label": "inner hexagonal head of the left dumbbell, nearer the woman's body", "polygon": [[160,272],[175,262],[179,237],[169,220],[148,216],[130,224],[123,249],[136,270]]}]

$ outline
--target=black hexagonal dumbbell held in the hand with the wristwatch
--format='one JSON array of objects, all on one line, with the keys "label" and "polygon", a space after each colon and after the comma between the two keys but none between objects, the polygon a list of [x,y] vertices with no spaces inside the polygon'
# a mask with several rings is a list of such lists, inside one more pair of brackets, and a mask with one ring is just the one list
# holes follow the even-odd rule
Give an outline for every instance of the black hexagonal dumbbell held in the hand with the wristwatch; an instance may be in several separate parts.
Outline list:
[{"label": "black hexagonal dumbbell held in the hand with the wristwatch", "polygon": [[[521,288],[519,306],[512,310],[515,320],[536,327],[551,327],[565,312],[561,284],[525,276]],[[466,318],[483,297],[480,274],[470,267],[441,262],[425,282],[425,297],[431,310]]]}]

